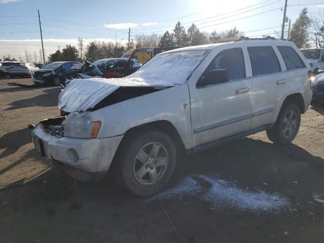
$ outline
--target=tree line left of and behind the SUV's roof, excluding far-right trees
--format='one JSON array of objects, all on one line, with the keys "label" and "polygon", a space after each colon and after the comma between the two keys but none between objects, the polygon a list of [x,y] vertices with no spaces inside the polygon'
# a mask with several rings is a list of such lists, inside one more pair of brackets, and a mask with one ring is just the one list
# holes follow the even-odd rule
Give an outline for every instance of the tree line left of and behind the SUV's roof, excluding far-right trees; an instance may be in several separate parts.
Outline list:
[{"label": "tree line left of and behind the SUV's roof, excluding far-right trees", "polygon": [[242,35],[236,27],[222,32],[200,32],[195,24],[192,24],[187,30],[181,23],[175,25],[172,32],[166,31],[163,35],[156,33],[135,35],[134,41],[130,45],[121,45],[120,43],[98,42],[94,41],[87,45],[86,52],[80,58],[78,50],[71,45],[66,45],[62,51],[57,50],[50,54],[49,61],[77,61],[80,59],[99,60],[104,58],[120,57],[127,50],[140,47],[168,47],[168,46],[194,46],[204,44],[209,41],[216,41],[222,38],[233,38]]}]

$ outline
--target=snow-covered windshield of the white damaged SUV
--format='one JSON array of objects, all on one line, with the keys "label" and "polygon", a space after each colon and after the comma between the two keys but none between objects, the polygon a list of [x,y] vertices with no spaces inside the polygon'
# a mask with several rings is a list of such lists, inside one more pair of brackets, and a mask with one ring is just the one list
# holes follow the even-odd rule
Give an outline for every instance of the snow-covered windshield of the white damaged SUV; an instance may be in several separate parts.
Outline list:
[{"label": "snow-covered windshield of the white damaged SUV", "polygon": [[192,71],[206,57],[208,51],[180,51],[159,54],[129,77],[150,84],[182,85]]}]

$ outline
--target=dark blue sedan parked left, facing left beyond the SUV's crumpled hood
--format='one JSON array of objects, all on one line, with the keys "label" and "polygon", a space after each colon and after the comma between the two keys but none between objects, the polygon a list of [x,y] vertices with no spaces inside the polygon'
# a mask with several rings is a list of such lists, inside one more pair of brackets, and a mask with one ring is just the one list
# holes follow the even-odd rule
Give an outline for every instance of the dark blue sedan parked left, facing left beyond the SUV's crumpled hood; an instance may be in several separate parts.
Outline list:
[{"label": "dark blue sedan parked left, facing left beyond the SUV's crumpled hood", "polygon": [[73,72],[71,67],[79,62],[52,62],[41,69],[35,70],[32,75],[34,84],[56,85],[65,82],[67,75]]}]

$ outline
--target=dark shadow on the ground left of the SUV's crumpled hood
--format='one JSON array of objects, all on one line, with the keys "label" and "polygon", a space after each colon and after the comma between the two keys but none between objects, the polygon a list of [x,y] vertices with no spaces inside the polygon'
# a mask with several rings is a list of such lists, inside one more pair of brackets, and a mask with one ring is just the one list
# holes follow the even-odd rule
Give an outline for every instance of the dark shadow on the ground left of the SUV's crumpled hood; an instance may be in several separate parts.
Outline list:
[{"label": "dark shadow on the ground left of the SUV's crumpled hood", "polygon": [[17,100],[10,103],[9,105],[11,105],[11,107],[7,108],[6,110],[14,110],[31,106],[56,106],[58,102],[58,95],[61,92],[61,89],[50,88],[43,91],[45,92],[45,94],[40,93],[40,95],[38,96],[23,100]]}]

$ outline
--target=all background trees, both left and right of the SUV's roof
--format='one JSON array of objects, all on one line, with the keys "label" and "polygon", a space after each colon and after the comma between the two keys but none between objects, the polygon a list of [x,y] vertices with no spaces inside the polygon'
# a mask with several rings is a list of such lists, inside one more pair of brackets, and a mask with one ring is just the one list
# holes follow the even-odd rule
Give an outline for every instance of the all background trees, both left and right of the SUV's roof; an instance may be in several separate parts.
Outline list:
[{"label": "all background trees, both left and right of the SUV's roof", "polygon": [[[289,33],[288,33],[289,32]],[[275,32],[277,37],[281,32]],[[236,27],[226,31],[212,33],[201,32],[195,24],[187,30],[178,21],[173,31],[166,31],[163,35],[156,33],[138,34],[129,45],[120,43],[94,41],[87,45],[84,56],[81,59],[99,60],[103,58],[120,57],[127,50],[140,47],[167,47],[167,46],[194,46],[218,41],[221,39],[236,38],[244,35]],[[285,38],[294,42],[298,48],[324,47],[324,11],[316,15],[308,16],[308,9],[304,8],[290,31],[288,25],[285,26]],[[67,45],[62,51],[57,50],[49,56],[50,61],[71,61],[80,60],[78,50],[71,45]]]}]

